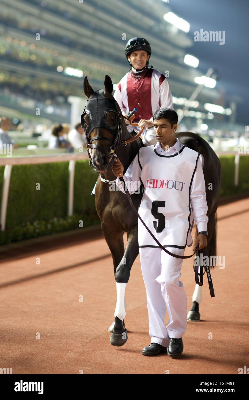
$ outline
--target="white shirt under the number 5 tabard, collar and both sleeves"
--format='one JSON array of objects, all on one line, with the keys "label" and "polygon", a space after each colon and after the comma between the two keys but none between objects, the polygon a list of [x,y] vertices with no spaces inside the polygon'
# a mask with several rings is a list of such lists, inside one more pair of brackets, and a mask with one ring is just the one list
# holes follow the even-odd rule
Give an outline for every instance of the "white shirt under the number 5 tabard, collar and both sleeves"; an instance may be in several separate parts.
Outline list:
[{"label": "white shirt under the number 5 tabard, collar and both sleeves", "polygon": [[[176,138],[175,144],[171,146],[168,150],[166,151],[163,150],[160,142],[157,142],[157,144],[155,145],[155,149],[157,150],[158,153],[161,152],[162,155],[168,156],[176,153],[179,154],[179,151],[181,150],[182,146],[183,145],[179,142],[179,139]],[[165,162],[167,162],[167,158],[165,158]],[[208,217],[206,214],[207,200],[206,200],[205,180],[203,177],[203,170],[201,166],[202,162],[203,162],[202,156],[200,154],[190,190],[191,208],[193,211],[193,218],[197,225],[198,232],[207,231],[207,222],[208,222]],[[141,168],[139,166],[138,156],[136,155],[123,176],[125,183],[128,182],[127,188],[128,189],[132,188],[132,190],[129,190],[129,194],[135,193],[136,190],[140,187],[141,185],[141,181],[139,180],[140,174],[141,174]],[[136,182],[136,184],[132,185],[132,182]],[[125,193],[122,186],[122,182],[120,182],[119,178],[116,178],[116,184],[118,185],[120,190],[122,190],[122,192]]]}]

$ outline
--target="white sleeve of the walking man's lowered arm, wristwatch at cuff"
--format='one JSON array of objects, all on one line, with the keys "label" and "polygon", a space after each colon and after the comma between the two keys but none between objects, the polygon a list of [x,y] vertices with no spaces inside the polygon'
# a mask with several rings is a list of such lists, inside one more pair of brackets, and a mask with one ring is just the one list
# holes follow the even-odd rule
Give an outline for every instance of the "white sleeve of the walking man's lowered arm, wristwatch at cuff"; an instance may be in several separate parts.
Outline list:
[{"label": "white sleeve of the walking man's lowered arm, wristwatch at cuff", "polygon": [[193,218],[198,232],[207,231],[208,222],[205,179],[201,167],[201,161],[200,155],[190,190]]}]

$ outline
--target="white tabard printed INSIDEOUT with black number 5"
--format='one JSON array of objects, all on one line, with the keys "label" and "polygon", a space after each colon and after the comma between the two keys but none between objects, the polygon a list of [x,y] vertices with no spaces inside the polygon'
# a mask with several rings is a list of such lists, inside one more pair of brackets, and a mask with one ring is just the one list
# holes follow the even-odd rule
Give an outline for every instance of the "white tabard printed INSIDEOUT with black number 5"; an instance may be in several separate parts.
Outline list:
[{"label": "white tabard printed INSIDEOUT with black number 5", "polygon": [[[155,146],[139,149],[143,197],[138,212],[164,247],[185,248],[192,244],[190,190],[199,155],[186,146],[171,156],[159,154]],[[139,219],[138,244],[159,248]]]}]

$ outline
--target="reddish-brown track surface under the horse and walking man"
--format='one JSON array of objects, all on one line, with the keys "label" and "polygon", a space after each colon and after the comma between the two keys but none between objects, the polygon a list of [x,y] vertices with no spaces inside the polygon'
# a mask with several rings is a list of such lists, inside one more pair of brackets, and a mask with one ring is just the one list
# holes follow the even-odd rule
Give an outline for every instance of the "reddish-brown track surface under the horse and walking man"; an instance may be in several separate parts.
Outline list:
[{"label": "reddish-brown track surface under the horse and walking man", "polygon": [[[225,268],[211,271],[215,298],[204,276],[201,321],[187,323],[183,354],[175,359],[141,354],[150,338],[139,256],[126,288],[128,341],[117,348],[107,332],[116,284],[103,238],[62,238],[2,252],[0,368],[13,374],[237,374],[248,367],[249,200],[220,206],[218,218],[217,254],[225,256]],[[192,258],[183,261],[181,273],[189,309]]]}]

